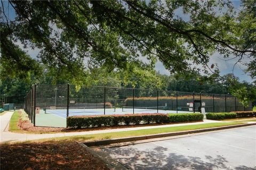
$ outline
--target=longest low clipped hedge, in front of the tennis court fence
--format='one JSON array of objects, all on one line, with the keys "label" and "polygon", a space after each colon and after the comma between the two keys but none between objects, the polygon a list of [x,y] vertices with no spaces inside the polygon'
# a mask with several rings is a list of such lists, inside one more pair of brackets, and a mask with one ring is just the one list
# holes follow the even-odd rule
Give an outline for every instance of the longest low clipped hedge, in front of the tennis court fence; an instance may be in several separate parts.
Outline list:
[{"label": "longest low clipped hedge, in front of the tennis court fence", "polygon": [[99,126],[114,126],[118,124],[140,123],[169,123],[202,121],[203,114],[125,114],[125,115],[93,115],[70,116],[67,118],[67,126],[70,128],[89,128]]}]

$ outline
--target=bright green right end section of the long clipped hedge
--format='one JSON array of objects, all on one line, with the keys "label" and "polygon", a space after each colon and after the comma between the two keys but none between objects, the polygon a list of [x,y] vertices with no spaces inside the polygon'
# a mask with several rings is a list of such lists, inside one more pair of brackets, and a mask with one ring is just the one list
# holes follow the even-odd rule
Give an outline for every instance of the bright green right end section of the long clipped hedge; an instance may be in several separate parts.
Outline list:
[{"label": "bright green right end section of the long clipped hedge", "polygon": [[203,118],[201,113],[169,114],[169,122],[202,121]]}]

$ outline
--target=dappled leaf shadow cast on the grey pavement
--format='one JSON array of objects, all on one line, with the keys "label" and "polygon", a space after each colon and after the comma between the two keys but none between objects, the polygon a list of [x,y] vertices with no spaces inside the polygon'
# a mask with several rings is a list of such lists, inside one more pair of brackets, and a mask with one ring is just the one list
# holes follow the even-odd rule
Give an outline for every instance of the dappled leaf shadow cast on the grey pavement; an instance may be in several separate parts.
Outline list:
[{"label": "dappled leaf shadow cast on the grey pavement", "polygon": [[218,155],[213,158],[205,155],[205,159],[199,157],[185,157],[171,153],[167,148],[156,147],[152,149],[135,149],[133,147],[105,148],[111,157],[116,159],[129,169],[237,169],[253,170],[252,167],[228,166],[225,157]]}]

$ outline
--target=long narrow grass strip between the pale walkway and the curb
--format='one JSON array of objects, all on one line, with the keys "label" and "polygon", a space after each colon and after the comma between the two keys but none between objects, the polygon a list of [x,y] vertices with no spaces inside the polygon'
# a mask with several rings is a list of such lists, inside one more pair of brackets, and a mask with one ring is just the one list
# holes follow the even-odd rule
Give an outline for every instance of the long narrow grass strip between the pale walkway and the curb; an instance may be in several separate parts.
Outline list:
[{"label": "long narrow grass strip between the pale walkway and the curb", "polygon": [[133,131],[76,135],[71,137],[48,138],[48,139],[31,141],[31,142],[93,141],[93,140],[103,140],[103,139],[135,137],[140,135],[150,135],[150,134],[159,134],[159,133],[167,133],[167,132],[180,132],[180,131],[188,131],[188,130],[196,130],[196,129],[215,128],[220,126],[237,125],[237,124],[244,124],[244,123],[243,122],[223,122],[223,123],[221,122],[221,123],[182,125],[182,126],[173,126],[173,127],[167,127],[167,128],[154,128],[154,129],[143,129],[143,130],[133,130]]}]

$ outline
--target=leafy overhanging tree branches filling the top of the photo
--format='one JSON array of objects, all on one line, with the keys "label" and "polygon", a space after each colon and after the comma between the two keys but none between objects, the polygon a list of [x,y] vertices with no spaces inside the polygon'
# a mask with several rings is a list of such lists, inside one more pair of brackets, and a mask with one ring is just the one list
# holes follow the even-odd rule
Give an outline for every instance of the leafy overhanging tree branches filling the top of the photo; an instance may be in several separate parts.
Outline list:
[{"label": "leafy overhanging tree branches filling the top of the photo", "polygon": [[[2,73],[38,75],[44,71],[39,64],[45,64],[52,75],[83,84],[102,67],[107,73],[119,71],[127,80],[133,75],[145,78],[161,61],[172,74],[190,77],[200,72],[205,79],[216,79],[218,66],[209,61],[219,53],[236,63],[249,61],[246,71],[255,78],[255,1],[242,1],[241,11],[230,1],[9,4],[16,16],[9,19],[2,7]],[[40,49],[37,58],[29,57],[17,42],[25,49]]]}]

